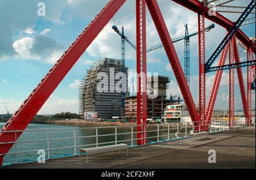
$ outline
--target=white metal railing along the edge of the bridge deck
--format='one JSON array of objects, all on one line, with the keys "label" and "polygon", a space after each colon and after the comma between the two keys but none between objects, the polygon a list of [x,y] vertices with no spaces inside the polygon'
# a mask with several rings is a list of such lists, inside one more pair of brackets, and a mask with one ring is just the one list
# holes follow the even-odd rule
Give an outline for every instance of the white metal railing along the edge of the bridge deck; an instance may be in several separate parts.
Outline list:
[{"label": "white metal railing along the edge of the bridge deck", "polygon": [[[241,126],[241,127],[246,127],[246,119],[243,120],[243,122],[240,121],[241,119],[236,119],[235,121],[233,121],[233,125],[235,126]],[[204,127],[205,125],[201,125],[200,122],[199,125],[195,126],[196,122],[191,122],[191,123],[164,123],[164,124],[157,124],[157,125],[126,125],[126,126],[107,126],[107,127],[81,127],[81,128],[63,128],[63,129],[44,129],[44,130],[23,130],[23,131],[1,131],[1,133],[20,133],[20,132],[39,132],[39,131],[46,131],[47,132],[47,139],[36,139],[36,140],[20,140],[18,141],[18,139],[15,140],[15,142],[5,142],[5,143],[0,143],[1,144],[14,144],[15,145],[15,152],[8,152],[5,154],[0,154],[0,156],[2,155],[15,155],[15,162],[17,162],[16,160],[16,156],[22,153],[31,153],[31,152],[38,152],[39,149],[33,149],[33,150],[29,150],[29,151],[18,151],[16,144],[21,144],[21,143],[33,143],[33,142],[47,142],[47,148],[44,148],[45,151],[48,152],[48,158],[50,158],[50,152],[56,149],[67,149],[67,148],[74,148],[74,155],[76,155],[76,148],[80,148],[80,147],[88,147],[88,146],[97,146],[98,145],[104,145],[104,144],[112,144],[112,143],[121,143],[121,142],[131,142],[131,147],[134,146],[134,141],[139,140],[139,139],[154,139],[157,138],[157,142],[160,142],[160,138],[162,137],[167,137],[166,140],[170,140],[170,136],[174,136],[176,135],[176,138],[172,138],[172,139],[179,139],[179,138],[186,138],[187,134],[188,134],[188,128],[192,128],[193,130],[196,127],[199,127],[199,129],[201,127]],[[255,122],[254,122],[255,123]],[[171,125],[177,125],[177,127],[170,127]],[[181,126],[179,126],[181,125]],[[185,127],[184,127],[185,125]],[[187,126],[187,125],[191,125],[191,126]],[[156,130],[147,130],[146,132],[157,132],[156,136],[147,136],[144,138],[134,138],[134,134],[137,133],[142,133],[143,131],[133,131],[134,127],[155,127]],[[131,132],[117,132],[117,128],[124,128],[124,127],[130,127],[131,128]],[[159,127],[164,127],[164,128],[159,128]],[[213,133],[213,132],[218,132],[221,130],[227,130],[227,128],[229,127],[229,122],[226,120],[223,120],[221,118],[212,118],[211,121],[209,122],[209,133]],[[114,134],[101,134],[98,135],[98,129],[102,129],[102,128],[115,128],[115,133]],[[96,130],[96,135],[88,135],[88,136],[76,136],[76,130],[83,130],[83,129],[95,129]],[[185,132],[181,132],[181,130],[185,130]],[[73,132],[73,136],[69,136],[69,137],[65,137],[65,138],[49,138],[49,132],[51,131],[74,131]],[[163,135],[159,135],[159,132],[166,132],[166,134]],[[170,131],[173,131],[174,133],[170,133]],[[176,131],[176,132],[175,132]],[[177,133],[177,134],[176,134]],[[117,140],[117,136],[118,135],[131,135],[130,139],[122,139],[122,140]],[[103,143],[99,143],[98,142],[98,138],[99,137],[104,137],[104,136],[115,136],[115,140],[112,142],[103,142]],[[81,145],[77,145],[76,143],[76,139],[81,139],[81,138],[96,138],[96,143],[93,144],[81,144]],[[67,140],[67,139],[73,139],[74,140],[74,145],[71,146],[65,146],[65,147],[55,147],[55,148],[50,148],[49,147],[49,141],[50,140]]]}]

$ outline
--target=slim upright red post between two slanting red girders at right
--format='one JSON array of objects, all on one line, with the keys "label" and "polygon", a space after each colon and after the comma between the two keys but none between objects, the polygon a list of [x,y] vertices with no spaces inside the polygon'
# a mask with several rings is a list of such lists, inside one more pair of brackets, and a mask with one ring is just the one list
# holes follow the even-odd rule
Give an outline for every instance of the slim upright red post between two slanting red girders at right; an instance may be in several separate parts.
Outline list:
[{"label": "slim upright red post between two slanting red girders at right", "polygon": [[[229,42],[229,64],[234,63],[233,56],[233,42],[236,41],[234,37]],[[229,127],[234,126],[234,69],[229,69]]]}]

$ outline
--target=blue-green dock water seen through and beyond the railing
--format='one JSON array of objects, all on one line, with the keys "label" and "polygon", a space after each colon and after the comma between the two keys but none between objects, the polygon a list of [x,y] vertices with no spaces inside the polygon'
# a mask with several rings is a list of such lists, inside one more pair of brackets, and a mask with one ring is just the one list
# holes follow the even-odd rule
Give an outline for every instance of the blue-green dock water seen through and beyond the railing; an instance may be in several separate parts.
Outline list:
[{"label": "blue-green dock water seen through and beyond the railing", "polygon": [[[0,128],[5,123],[0,122]],[[67,129],[67,128],[78,128],[76,130],[58,130],[58,129]],[[130,129],[129,129],[130,128]],[[131,127],[128,129],[124,128],[117,128],[117,133],[127,133],[129,134],[122,134],[117,136],[117,141],[119,140],[129,140],[126,142],[120,142],[120,143],[126,143],[128,145],[131,145]],[[82,138],[82,136],[93,136],[96,135],[96,128],[79,128],[77,126],[63,126],[63,125],[37,125],[37,124],[30,124],[26,128],[26,130],[51,130],[51,131],[28,131],[23,132],[22,135],[20,135],[18,142],[16,145],[13,145],[13,147],[10,149],[9,153],[11,152],[24,152],[24,151],[33,151],[35,152],[29,152],[29,153],[19,153],[18,155],[6,155],[3,162],[9,163],[9,162],[21,162],[24,160],[36,160],[39,156],[37,154],[38,149],[47,149],[49,145],[49,154],[46,150],[46,157],[57,157],[61,155],[74,155],[75,151],[76,154],[79,153],[79,149],[82,147],[77,147],[76,149],[72,146],[74,144],[76,145],[85,145],[85,144],[96,144],[96,137],[88,137],[88,138]],[[136,132],[136,127],[133,127],[133,132]],[[48,135],[47,135],[48,133]],[[173,132],[172,132],[173,133]],[[107,135],[107,134],[115,134],[115,128],[98,128],[98,135]],[[148,132],[148,137],[157,136],[157,132]],[[167,131],[159,131],[159,135],[166,135],[163,137],[160,137],[160,140],[166,140],[167,139]],[[47,141],[47,136],[49,140]],[[76,140],[73,139],[73,137],[76,136]],[[69,138],[69,139],[57,139],[57,138]],[[133,134],[133,139],[136,138],[136,134]],[[170,136],[170,138],[174,138],[174,135]],[[43,140],[42,140],[43,139]],[[22,143],[22,141],[28,141],[28,140],[42,140],[42,141],[36,141],[36,142],[27,142]],[[151,141],[157,141],[157,138],[151,138],[148,139],[148,142]],[[106,142],[113,142],[108,144],[101,144],[101,145],[110,145],[115,144],[115,135],[108,135],[108,136],[100,136],[98,137],[98,143],[106,143]],[[136,144],[136,140],[133,141],[133,145]],[[61,147],[70,147],[70,148],[64,148],[61,149]],[[89,146],[87,146],[89,147]],[[96,145],[91,145],[90,147],[96,147]],[[60,149],[51,149],[51,148],[60,148]]]}]

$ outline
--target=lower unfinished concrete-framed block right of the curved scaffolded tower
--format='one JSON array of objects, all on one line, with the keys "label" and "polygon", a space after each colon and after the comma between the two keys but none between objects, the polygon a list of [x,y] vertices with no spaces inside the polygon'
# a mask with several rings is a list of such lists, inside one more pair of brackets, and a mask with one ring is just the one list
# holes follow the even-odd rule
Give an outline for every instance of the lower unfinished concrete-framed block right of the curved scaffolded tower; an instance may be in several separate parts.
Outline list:
[{"label": "lower unfinished concrete-framed block right of the curved scaffolded tower", "polygon": [[[167,99],[166,89],[167,83],[170,80],[166,76],[158,76],[158,87],[154,87],[154,77],[147,78],[147,118],[161,118],[164,114],[164,109],[167,105],[180,103],[180,98],[171,96]],[[158,96],[155,98],[148,98],[148,95],[152,94],[152,89],[158,89]],[[137,96],[129,96],[125,98],[125,118],[136,119],[137,118]]]}]

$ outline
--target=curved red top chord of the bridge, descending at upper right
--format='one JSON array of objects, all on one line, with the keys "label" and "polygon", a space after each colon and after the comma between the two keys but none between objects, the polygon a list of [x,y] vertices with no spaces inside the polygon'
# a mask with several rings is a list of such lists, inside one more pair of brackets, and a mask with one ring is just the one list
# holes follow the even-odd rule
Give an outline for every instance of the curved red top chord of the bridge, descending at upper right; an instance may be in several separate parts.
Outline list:
[{"label": "curved red top chord of the bridge, descending at upper right", "polygon": [[[202,10],[205,12],[209,11],[208,7],[204,7],[204,3],[200,2],[198,0],[172,0],[179,5],[188,8],[189,10],[192,10],[193,12],[199,13]],[[230,27],[233,27],[234,23],[230,21],[229,19],[225,18],[218,12],[216,12],[216,15],[209,15],[208,13],[205,14],[205,18],[211,20],[212,22],[221,25],[225,29],[229,29]],[[249,37],[245,35],[241,31],[241,29],[238,29],[236,33],[237,38],[246,46],[251,47],[253,52],[255,51],[255,42],[252,42]]]}]

